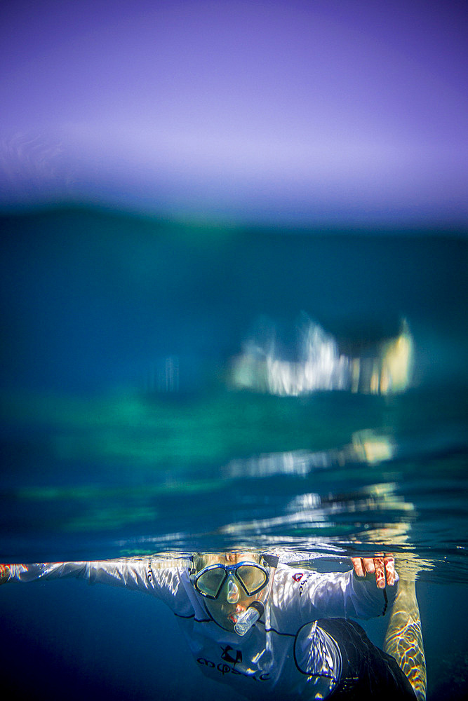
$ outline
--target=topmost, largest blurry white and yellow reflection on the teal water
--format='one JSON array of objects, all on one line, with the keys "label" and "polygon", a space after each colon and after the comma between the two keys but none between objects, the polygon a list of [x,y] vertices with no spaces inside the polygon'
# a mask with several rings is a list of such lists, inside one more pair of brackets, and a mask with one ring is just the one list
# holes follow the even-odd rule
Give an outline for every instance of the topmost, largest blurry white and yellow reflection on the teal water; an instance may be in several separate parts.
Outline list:
[{"label": "topmost, largest blurry white and yellow reflection on the teal water", "polygon": [[357,357],[340,353],[337,342],[307,320],[300,327],[300,359],[281,358],[274,334],[253,338],[232,362],[231,383],[238,389],[293,396],[346,390],[380,394],[403,392],[410,383],[413,336],[406,320],[398,336]]}]

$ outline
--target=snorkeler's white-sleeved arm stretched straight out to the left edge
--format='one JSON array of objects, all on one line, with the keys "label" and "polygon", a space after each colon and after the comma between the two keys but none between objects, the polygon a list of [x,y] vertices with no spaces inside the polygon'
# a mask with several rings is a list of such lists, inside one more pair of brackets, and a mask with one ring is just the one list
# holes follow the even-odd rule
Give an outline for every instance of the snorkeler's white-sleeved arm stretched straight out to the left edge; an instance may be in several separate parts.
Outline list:
[{"label": "snorkeler's white-sleeved arm stretched straight out to the left edge", "polygon": [[187,595],[180,587],[180,569],[177,566],[160,568],[157,562],[147,557],[94,562],[0,564],[0,584],[65,577],[147,592],[164,601],[173,611],[180,608],[185,610],[188,604]]}]

